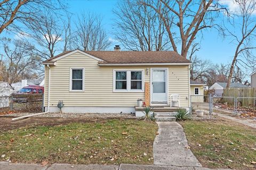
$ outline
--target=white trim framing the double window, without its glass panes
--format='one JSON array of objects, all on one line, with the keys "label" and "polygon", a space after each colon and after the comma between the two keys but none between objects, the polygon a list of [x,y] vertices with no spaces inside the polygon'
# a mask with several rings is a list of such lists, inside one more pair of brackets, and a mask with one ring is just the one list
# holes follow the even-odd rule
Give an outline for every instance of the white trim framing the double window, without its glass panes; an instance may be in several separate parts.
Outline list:
[{"label": "white trim framing the double window, without its glass panes", "polygon": [[[116,72],[126,72],[126,89],[116,89]],[[131,71],[141,71],[141,90],[131,89]],[[113,70],[113,92],[144,92],[144,70]]]}]

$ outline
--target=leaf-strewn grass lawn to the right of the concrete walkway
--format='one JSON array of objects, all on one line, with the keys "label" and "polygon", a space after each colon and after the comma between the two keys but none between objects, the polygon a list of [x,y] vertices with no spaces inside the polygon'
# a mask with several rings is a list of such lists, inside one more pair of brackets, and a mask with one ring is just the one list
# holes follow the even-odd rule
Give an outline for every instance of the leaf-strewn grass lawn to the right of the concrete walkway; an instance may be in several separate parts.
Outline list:
[{"label": "leaf-strewn grass lawn to the right of the concrete walkway", "polygon": [[191,150],[204,167],[256,168],[256,130],[231,121],[186,121]]}]

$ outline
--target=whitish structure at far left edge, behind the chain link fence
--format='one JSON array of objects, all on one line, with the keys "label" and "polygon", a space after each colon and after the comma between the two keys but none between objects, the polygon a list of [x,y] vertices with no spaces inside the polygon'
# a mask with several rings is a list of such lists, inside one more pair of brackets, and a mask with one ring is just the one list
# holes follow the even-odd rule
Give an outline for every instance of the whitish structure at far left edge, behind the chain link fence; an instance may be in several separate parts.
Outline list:
[{"label": "whitish structure at far left edge, behind the chain link fence", "polygon": [[7,82],[0,82],[0,108],[9,106],[9,96],[12,94],[13,88]]}]

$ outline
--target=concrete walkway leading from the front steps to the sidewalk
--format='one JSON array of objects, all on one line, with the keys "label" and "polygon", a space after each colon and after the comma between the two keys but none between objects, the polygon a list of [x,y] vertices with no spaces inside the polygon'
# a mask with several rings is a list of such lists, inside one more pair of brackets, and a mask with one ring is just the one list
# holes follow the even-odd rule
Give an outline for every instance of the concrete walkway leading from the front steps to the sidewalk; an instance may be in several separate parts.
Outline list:
[{"label": "concrete walkway leading from the front steps to the sidewalk", "polygon": [[202,167],[188,147],[182,126],[177,122],[156,122],[158,135],[153,146],[154,165]]}]

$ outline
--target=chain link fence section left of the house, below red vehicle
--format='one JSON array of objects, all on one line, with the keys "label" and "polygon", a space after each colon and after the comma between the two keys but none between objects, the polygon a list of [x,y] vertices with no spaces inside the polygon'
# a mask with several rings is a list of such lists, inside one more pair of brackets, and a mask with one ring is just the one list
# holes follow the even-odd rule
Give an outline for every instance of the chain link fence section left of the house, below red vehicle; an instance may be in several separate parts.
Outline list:
[{"label": "chain link fence section left of the house, below red vehicle", "polygon": [[0,96],[0,114],[41,113],[43,112],[43,94],[12,94]]}]

